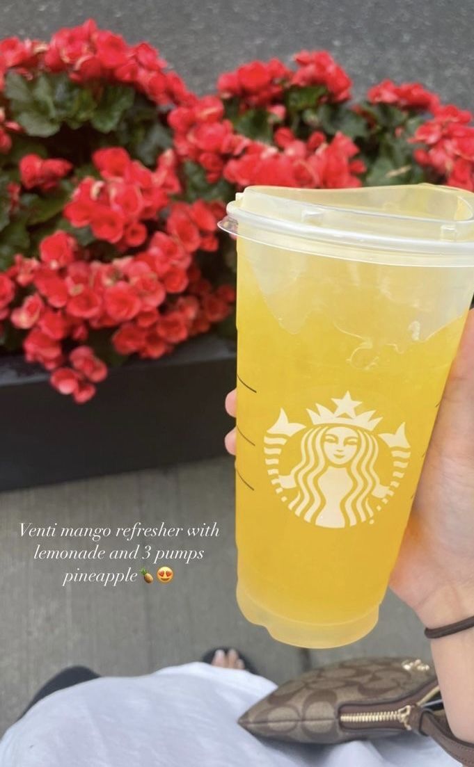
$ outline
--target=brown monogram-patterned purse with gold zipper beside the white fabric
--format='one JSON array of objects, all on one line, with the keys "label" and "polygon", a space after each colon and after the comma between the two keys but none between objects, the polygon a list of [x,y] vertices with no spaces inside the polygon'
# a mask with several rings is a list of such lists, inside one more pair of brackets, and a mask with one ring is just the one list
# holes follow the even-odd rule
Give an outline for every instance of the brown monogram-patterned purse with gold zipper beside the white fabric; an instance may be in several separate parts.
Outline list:
[{"label": "brown monogram-patterned purse with gold zipper beside the white fabric", "polygon": [[474,745],[449,729],[433,667],[418,658],[360,658],[303,673],[240,716],[253,735],[341,743],[411,730],[474,767]]}]

